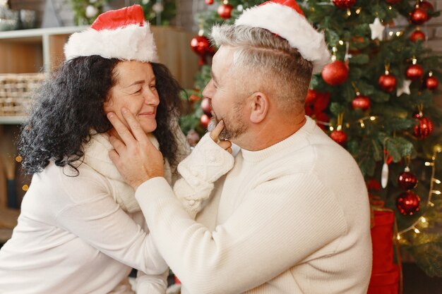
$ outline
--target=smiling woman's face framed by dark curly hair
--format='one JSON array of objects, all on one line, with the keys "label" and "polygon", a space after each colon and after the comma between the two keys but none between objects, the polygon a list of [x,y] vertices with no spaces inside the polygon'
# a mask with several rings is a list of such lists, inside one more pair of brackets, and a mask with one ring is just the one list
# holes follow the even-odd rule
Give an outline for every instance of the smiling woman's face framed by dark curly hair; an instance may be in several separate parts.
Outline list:
[{"label": "smiling woman's face framed by dark curly hair", "polygon": [[152,66],[141,61],[121,61],[115,66],[114,73],[117,82],[104,103],[104,112],[112,111],[124,121],[121,108],[126,107],[144,132],[152,133],[157,128],[155,115],[160,104]]}]

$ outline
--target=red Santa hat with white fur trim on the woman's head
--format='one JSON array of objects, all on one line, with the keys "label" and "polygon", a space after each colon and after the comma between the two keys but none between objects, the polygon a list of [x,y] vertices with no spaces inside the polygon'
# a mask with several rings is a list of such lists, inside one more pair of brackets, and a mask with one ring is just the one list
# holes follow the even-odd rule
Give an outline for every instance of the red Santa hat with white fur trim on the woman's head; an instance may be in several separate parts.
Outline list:
[{"label": "red Santa hat with white fur trim on the woman's head", "polygon": [[150,25],[139,5],[100,14],[88,29],[69,37],[64,55],[66,60],[100,55],[107,59],[158,61]]}]

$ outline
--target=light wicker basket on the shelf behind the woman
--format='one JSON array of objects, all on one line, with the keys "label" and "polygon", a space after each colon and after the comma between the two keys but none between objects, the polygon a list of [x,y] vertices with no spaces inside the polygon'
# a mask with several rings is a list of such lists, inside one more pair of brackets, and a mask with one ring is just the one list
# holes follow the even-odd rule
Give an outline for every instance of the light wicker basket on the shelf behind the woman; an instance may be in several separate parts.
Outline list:
[{"label": "light wicker basket on the shelf behind the woman", "polygon": [[0,74],[0,116],[25,116],[32,92],[43,80],[44,73]]}]

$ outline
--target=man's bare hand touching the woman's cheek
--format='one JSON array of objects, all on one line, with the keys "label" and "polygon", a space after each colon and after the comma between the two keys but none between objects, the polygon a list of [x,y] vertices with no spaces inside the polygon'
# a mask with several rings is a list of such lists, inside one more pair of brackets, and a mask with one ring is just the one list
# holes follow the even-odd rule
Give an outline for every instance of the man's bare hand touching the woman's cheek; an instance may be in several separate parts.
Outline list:
[{"label": "man's bare hand touching the woman's cheek", "polygon": [[136,189],[150,178],[164,176],[164,161],[161,152],[150,142],[135,116],[125,108],[121,109],[121,114],[129,128],[114,113],[107,114],[121,137],[121,140],[112,135],[109,137],[114,147],[109,151],[109,157],[124,180]]}]

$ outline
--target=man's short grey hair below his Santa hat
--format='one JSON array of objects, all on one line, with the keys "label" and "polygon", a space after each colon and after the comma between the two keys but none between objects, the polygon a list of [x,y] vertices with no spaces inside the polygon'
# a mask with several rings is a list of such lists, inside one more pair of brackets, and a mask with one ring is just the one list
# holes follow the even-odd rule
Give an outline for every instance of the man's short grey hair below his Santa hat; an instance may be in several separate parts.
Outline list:
[{"label": "man's short grey hair below his Santa hat", "polygon": [[239,87],[255,87],[248,90],[275,97],[280,109],[304,107],[313,65],[286,39],[246,25],[217,25],[211,36],[218,47],[234,47],[229,74],[242,74]]}]

